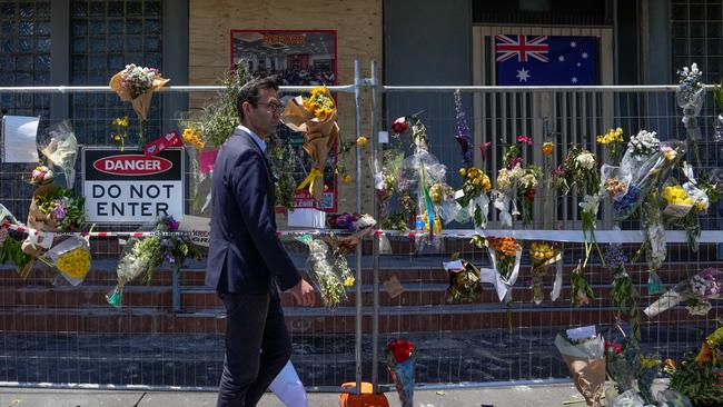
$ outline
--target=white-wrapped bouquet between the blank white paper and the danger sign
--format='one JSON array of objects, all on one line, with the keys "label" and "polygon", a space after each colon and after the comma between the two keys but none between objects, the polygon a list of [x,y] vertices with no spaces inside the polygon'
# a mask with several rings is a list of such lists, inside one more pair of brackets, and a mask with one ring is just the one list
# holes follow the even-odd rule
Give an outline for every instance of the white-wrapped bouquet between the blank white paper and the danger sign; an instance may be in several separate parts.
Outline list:
[{"label": "white-wrapped bouquet between the blank white paper and the danger sign", "polygon": [[39,142],[40,152],[66,176],[66,187],[72,189],[76,180],[78,140],[68,120],[48,128],[47,139]]}]

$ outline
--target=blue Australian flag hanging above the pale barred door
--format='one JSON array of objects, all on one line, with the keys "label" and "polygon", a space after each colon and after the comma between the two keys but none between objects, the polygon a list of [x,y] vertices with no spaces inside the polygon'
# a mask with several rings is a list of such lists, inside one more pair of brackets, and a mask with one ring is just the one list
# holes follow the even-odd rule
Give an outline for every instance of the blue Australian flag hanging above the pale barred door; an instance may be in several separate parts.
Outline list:
[{"label": "blue Australian flag hanging above the pale barred door", "polygon": [[597,38],[495,36],[497,85],[598,85]]}]

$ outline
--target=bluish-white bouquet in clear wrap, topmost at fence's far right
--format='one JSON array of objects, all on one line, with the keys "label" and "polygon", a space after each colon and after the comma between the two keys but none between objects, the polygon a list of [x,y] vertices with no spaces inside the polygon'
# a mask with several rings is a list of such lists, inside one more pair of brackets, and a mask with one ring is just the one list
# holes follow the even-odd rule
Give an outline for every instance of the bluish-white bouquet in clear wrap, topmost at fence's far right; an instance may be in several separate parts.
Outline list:
[{"label": "bluish-white bouquet in clear wrap, topmost at fence's far right", "polygon": [[703,71],[697,69],[693,62],[691,69],[683,67],[677,71],[679,88],[675,91],[677,106],[683,109],[683,125],[687,130],[689,140],[696,140],[701,137],[697,128],[696,117],[701,113],[705,100],[705,83],[703,83]]}]

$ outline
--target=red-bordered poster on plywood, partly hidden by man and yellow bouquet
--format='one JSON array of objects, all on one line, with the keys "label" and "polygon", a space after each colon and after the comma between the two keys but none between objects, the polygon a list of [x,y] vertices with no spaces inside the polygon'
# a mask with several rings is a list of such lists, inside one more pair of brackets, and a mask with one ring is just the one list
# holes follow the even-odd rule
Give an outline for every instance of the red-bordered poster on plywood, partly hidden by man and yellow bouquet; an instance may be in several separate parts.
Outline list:
[{"label": "red-bordered poster on plywood, partly hidden by man and yellow bouquet", "polygon": [[[231,66],[241,60],[252,76],[275,77],[280,86],[333,86],[337,83],[336,30],[231,30]],[[283,101],[295,96],[283,95]],[[311,159],[301,148],[304,135],[279,125],[277,141],[294,150],[288,156],[295,161],[293,175],[299,185],[311,168]],[[307,190],[297,190],[295,208],[337,210],[337,157],[334,148],[324,168],[324,198],[315,202]]]}]

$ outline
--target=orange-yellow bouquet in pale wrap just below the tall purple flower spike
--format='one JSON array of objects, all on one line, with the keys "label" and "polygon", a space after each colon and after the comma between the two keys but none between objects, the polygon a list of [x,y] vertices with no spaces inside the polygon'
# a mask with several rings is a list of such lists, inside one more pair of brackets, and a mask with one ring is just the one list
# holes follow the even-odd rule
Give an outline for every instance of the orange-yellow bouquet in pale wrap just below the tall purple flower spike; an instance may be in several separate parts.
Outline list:
[{"label": "orange-yellow bouquet in pale wrap just below the tall purple flower spike", "polygon": [[[462,183],[462,195],[457,202],[462,207],[462,217],[472,218],[475,227],[484,229],[487,226],[487,216],[489,215],[489,197],[487,193],[492,190],[489,177],[484,171],[475,168],[460,168],[459,175],[464,178]],[[457,220],[462,220],[457,216]]]}]

